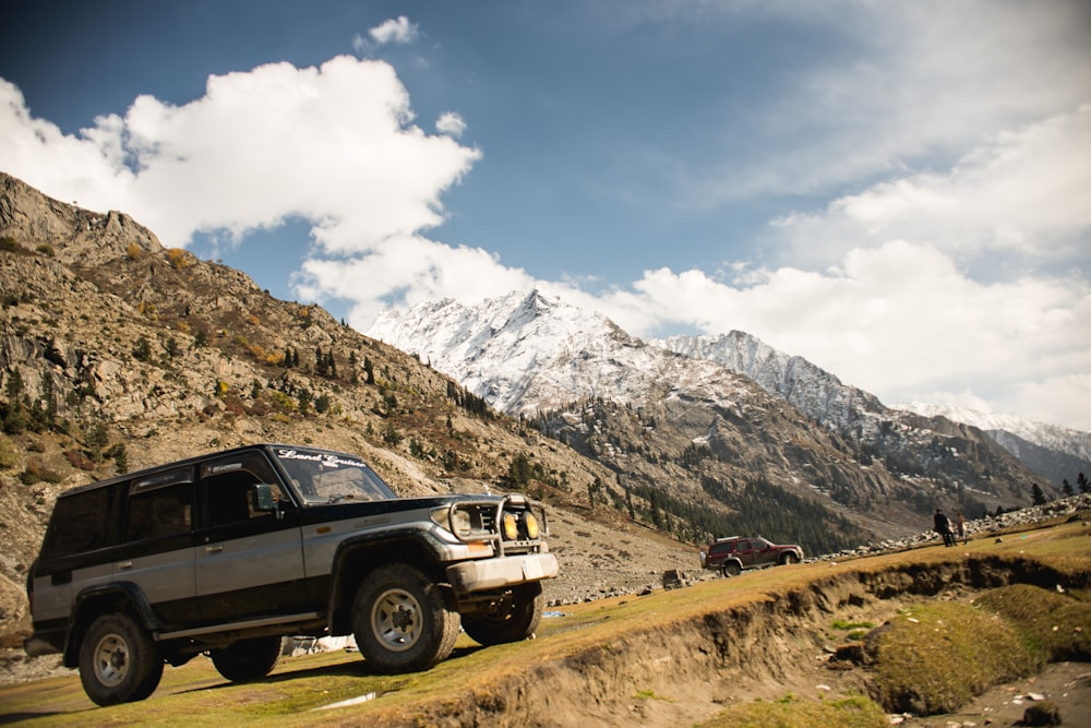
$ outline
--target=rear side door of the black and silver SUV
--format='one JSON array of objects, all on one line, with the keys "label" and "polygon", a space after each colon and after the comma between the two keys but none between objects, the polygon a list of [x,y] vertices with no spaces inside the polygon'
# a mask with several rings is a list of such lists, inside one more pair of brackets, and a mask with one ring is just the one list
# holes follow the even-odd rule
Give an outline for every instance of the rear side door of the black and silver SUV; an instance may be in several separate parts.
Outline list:
[{"label": "rear side door of the black and silver SUV", "polygon": [[168,628],[199,619],[193,605],[193,468],[129,484],[113,583],[135,585]]}]

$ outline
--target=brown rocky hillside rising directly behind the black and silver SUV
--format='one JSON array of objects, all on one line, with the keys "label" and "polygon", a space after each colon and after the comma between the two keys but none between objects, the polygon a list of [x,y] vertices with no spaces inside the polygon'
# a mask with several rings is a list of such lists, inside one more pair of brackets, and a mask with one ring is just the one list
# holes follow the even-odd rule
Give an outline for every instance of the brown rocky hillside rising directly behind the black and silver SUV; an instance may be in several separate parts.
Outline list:
[{"label": "brown rocky hillside rising directly behind the black and silver SUV", "polygon": [[[164,249],[131,217],[0,175],[0,647],[59,492],[249,442],[360,453],[401,494],[520,488],[554,516],[554,599],[649,580],[696,550],[589,508],[602,465],[497,415],[445,374],[244,274]],[[513,464],[529,468],[517,479]],[[640,503],[638,500],[637,503]],[[620,540],[633,540],[619,546]]]}]

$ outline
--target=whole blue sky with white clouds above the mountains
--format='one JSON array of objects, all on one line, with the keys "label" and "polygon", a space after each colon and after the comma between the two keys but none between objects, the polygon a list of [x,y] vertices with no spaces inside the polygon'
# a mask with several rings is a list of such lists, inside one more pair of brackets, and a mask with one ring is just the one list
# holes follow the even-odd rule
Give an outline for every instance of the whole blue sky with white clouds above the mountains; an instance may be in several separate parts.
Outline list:
[{"label": "whole blue sky with white clouds above the mountains", "polygon": [[1078,0],[19,3],[0,169],[367,331],[538,286],[1091,430]]}]

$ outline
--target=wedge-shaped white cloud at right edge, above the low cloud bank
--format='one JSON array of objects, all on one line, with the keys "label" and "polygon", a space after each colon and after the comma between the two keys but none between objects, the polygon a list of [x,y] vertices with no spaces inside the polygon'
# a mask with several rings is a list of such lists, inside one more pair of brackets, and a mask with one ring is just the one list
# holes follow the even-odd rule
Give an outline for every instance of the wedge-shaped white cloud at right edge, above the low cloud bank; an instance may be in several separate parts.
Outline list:
[{"label": "wedge-shaped white cloud at right edge, above the low cloud bank", "polygon": [[997,135],[945,172],[919,172],[777,220],[793,260],[836,260],[898,236],[968,261],[1014,252],[1086,255],[1091,230],[1091,105]]}]

